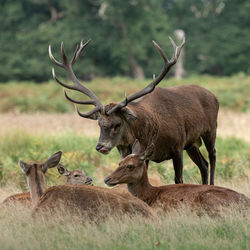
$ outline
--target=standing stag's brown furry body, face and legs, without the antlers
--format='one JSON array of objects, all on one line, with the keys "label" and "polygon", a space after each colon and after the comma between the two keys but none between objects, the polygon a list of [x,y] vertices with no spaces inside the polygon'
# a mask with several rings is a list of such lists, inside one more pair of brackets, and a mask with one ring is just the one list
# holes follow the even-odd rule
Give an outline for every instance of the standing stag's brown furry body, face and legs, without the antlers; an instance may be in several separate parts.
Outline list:
[{"label": "standing stag's brown furry body, face and legs, without the antlers", "polygon": [[[114,105],[107,105],[106,112]],[[98,145],[102,146],[101,149],[108,148],[108,152],[117,146],[121,156],[126,157],[131,153],[136,138],[145,150],[154,137],[155,150],[149,160],[162,162],[172,159],[175,182],[182,183],[182,154],[185,149],[199,167],[202,183],[207,184],[208,163],[199,150],[202,138],[209,153],[210,184],[214,184],[218,107],[216,97],[196,85],[156,88],[140,101],[129,103],[126,107],[136,119],[128,120],[122,110],[109,116],[101,114]],[[114,121],[121,124],[115,133]],[[103,126],[110,129],[105,130]]]}]

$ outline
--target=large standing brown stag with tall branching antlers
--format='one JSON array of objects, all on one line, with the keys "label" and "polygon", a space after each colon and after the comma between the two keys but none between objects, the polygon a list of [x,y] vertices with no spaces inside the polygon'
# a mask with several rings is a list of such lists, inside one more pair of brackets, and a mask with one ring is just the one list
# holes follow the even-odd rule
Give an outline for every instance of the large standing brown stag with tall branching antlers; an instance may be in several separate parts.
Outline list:
[{"label": "large standing brown stag with tall branching antlers", "polygon": [[[49,46],[50,59],[68,72],[68,76],[74,85],[68,85],[60,81],[54,68],[52,69],[52,75],[63,87],[82,92],[90,98],[85,101],[74,100],[65,91],[68,100],[76,104],[95,106],[87,113],[81,113],[77,107],[76,110],[84,118],[98,120],[100,137],[96,146],[97,151],[108,154],[112,148],[117,147],[121,157],[124,158],[131,153],[136,138],[141,141],[142,148],[145,150],[152,140],[152,136],[157,132],[155,151],[149,160],[162,162],[172,159],[175,183],[183,183],[182,158],[185,149],[192,161],[199,167],[202,183],[207,184],[208,163],[199,150],[202,139],[209,155],[210,184],[213,185],[218,100],[210,91],[197,85],[155,88],[176,63],[184,46],[185,38],[180,46],[176,46],[171,38],[170,41],[174,48],[174,54],[170,60],[160,46],[153,41],[164,60],[162,71],[147,87],[126,97],[120,103],[110,103],[103,106],[97,96],[82,85],[74,74],[72,66],[89,41],[85,44],[81,42],[80,46],[77,45],[70,61],[67,59],[62,43],[62,63],[54,58],[51,46]],[[137,102],[133,102],[138,98],[140,99]]]}]

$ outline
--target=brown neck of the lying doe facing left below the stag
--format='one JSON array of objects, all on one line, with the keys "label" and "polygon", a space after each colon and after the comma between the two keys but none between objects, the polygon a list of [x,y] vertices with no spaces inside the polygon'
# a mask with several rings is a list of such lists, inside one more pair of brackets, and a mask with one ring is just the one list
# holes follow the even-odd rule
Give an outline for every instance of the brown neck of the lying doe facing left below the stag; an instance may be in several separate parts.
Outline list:
[{"label": "brown neck of the lying doe facing left below the stag", "polygon": [[156,193],[158,192],[157,187],[153,187],[148,181],[146,165],[144,166],[143,176],[137,183],[128,183],[128,191],[143,200],[148,205],[152,205],[155,202]]}]

